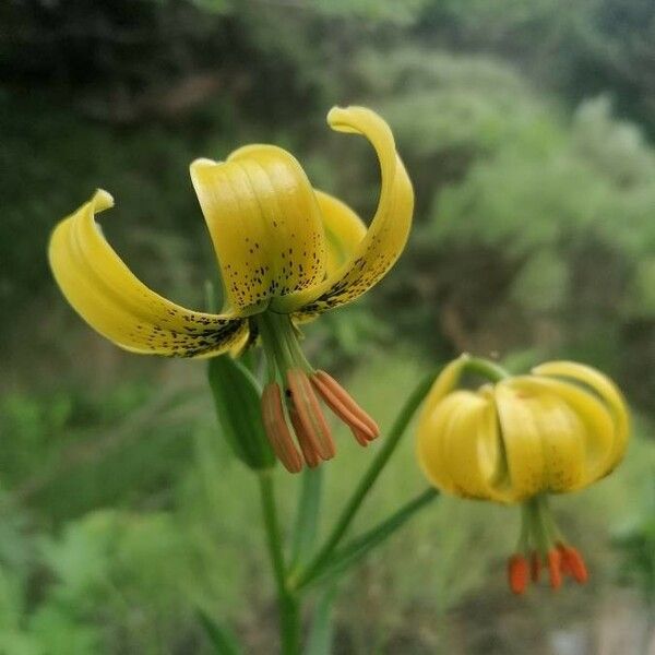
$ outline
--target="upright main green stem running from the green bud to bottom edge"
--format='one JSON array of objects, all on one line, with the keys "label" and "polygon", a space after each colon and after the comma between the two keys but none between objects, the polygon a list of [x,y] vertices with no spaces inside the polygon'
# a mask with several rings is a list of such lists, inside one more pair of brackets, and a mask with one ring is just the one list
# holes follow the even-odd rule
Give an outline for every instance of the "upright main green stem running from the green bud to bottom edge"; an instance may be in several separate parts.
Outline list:
[{"label": "upright main green stem running from the green bud to bottom edge", "polygon": [[281,648],[283,655],[299,655],[300,606],[298,598],[290,592],[286,584],[282,535],[277,522],[272,473],[270,471],[262,471],[259,473],[258,479],[269,543],[269,555],[273,564],[275,587],[277,590]]}]

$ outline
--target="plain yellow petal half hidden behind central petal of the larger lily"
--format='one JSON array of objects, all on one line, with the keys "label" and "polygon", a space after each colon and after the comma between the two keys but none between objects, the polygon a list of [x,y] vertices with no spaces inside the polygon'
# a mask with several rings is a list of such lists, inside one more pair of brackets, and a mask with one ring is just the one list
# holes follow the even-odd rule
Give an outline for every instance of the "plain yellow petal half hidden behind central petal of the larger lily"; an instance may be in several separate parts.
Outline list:
[{"label": "plain yellow petal half hidden behind central petal of the larger lily", "polygon": [[314,190],[325,230],[325,269],[332,275],[348,261],[366,236],[366,225],[359,216],[341,200]]}]

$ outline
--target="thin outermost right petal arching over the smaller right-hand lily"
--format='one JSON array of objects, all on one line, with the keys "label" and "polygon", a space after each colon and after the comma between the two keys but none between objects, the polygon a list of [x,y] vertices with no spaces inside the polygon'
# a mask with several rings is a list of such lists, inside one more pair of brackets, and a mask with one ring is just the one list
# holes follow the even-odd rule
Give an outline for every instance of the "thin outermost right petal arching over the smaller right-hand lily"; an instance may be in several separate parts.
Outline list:
[{"label": "thin outermost right petal arching over the smaller right-hand lily", "polygon": [[600,371],[574,361],[549,361],[533,369],[533,373],[565,378],[583,384],[596,393],[607,405],[615,421],[615,440],[611,453],[608,455],[611,465],[606,471],[606,474],[610,473],[623,458],[630,436],[628,404],[617,385]]}]

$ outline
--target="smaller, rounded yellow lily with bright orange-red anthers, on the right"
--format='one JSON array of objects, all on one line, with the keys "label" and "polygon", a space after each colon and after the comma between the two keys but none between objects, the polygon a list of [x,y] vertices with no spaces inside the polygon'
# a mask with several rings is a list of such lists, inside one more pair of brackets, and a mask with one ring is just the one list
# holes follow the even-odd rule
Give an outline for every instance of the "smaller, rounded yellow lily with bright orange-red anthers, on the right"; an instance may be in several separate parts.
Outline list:
[{"label": "smaller, rounded yellow lily with bright orange-red anthers, on the right", "polygon": [[[493,384],[458,389],[466,371]],[[599,371],[552,361],[529,376],[464,355],[444,368],[418,425],[418,461],[428,479],[462,498],[522,503],[510,586],[521,593],[528,576],[548,564],[553,588],[561,574],[586,580],[580,553],[569,546],[548,508],[547,495],[582,489],[620,463],[629,415],[620,391]]]}]

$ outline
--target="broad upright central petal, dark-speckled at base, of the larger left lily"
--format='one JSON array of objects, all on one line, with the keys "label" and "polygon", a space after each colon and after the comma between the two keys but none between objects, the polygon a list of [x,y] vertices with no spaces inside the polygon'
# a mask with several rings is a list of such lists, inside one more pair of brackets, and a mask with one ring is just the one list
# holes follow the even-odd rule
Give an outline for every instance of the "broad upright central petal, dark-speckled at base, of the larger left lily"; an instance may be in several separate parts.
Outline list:
[{"label": "broad upright central petal, dark-speckled at base, of the larger left lily", "polygon": [[223,274],[227,307],[241,315],[325,277],[325,237],[314,192],[298,162],[249,145],[227,162],[196,159],[191,180]]}]

